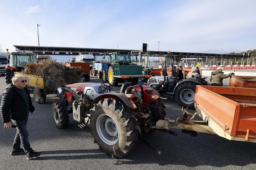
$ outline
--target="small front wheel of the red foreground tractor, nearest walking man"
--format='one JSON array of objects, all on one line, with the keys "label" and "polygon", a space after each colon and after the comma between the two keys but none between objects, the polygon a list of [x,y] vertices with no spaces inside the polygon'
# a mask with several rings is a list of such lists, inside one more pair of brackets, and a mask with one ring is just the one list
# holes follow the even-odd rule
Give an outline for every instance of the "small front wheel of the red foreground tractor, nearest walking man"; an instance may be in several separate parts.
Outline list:
[{"label": "small front wheel of the red foreground tractor, nearest walking man", "polygon": [[66,106],[66,103],[63,100],[54,102],[53,117],[57,128],[62,129],[68,125],[68,107]]}]

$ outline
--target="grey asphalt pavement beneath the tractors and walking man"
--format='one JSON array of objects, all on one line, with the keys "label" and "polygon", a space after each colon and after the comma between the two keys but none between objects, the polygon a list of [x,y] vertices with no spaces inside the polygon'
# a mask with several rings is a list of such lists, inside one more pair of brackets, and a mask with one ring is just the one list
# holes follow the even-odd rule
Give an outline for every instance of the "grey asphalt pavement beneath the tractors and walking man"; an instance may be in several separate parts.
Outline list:
[{"label": "grey asphalt pavement beneath the tractors and walking man", "polygon": [[[90,81],[99,82],[92,76]],[[0,94],[2,94],[5,90],[4,76],[0,77],[0,82]],[[118,91],[118,88],[113,90]],[[33,100],[33,94],[31,96]],[[174,130],[178,136],[160,131],[145,135],[148,142],[162,151],[162,156],[155,154],[147,145],[139,141],[126,157],[112,159],[93,143],[90,128],[79,128],[77,122],[71,118],[68,128],[61,130],[56,128],[52,103],[57,99],[54,95],[47,95],[44,104],[33,102],[36,110],[29,115],[27,124],[29,141],[35,151],[43,151],[36,160],[27,161],[25,154],[16,156],[9,154],[16,129],[6,130],[3,128],[4,124],[0,123],[0,170],[256,169],[255,143],[229,141],[216,135],[203,133],[192,137],[181,133],[181,130]],[[166,117],[177,119],[182,115],[181,107],[173,98],[164,99],[164,104],[167,107]]]}]

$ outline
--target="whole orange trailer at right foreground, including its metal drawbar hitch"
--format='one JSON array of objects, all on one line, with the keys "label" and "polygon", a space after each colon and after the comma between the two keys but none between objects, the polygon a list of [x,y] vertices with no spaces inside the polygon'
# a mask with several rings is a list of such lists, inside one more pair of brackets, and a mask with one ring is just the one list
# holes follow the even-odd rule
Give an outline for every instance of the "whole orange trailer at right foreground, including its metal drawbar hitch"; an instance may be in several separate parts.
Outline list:
[{"label": "whole orange trailer at right foreground, including its metal drawbar hitch", "polygon": [[[199,132],[217,134],[229,140],[256,143],[256,89],[197,85],[194,102],[195,114],[185,109],[178,119],[159,120],[152,128],[181,129],[191,136]],[[188,118],[189,114],[193,116]],[[202,121],[194,121],[195,116]]]}]

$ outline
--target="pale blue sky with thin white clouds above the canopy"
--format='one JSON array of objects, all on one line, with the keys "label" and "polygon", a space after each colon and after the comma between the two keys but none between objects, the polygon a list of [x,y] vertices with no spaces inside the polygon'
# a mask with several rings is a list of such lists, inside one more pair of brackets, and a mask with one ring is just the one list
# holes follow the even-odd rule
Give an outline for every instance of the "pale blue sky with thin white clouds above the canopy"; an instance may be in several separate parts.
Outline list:
[{"label": "pale blue sky with thin white clouds above the canopy", "polygon": [[0,0],[13,45],[199,52],[256,49],[256,0]]}]

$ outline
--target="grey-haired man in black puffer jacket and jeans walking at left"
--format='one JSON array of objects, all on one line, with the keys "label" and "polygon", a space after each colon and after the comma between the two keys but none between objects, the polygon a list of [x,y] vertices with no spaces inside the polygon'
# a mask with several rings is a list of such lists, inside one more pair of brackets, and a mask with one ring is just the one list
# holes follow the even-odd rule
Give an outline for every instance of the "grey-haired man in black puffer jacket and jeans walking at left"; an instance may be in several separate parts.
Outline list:
[{"label": "grey-haired man in black puffer jacket and jeans walking at left", "polygon": [[[34,152],[30,147],[27,132],[27,120],[29,112],[34,112],[29,91],[26,87],[26,80],[23,76],[17,75],[11,79],[12,83],[6,86],[2,94],[0,113],[4,128],[11,128],[11,121],[16,125],[17,133],[14,138],[11,155],[20,153],[27,154],[27,160],[36,159],[42,152]],[[20,148],[20,144],[23,149]]]}]

